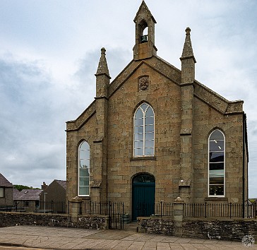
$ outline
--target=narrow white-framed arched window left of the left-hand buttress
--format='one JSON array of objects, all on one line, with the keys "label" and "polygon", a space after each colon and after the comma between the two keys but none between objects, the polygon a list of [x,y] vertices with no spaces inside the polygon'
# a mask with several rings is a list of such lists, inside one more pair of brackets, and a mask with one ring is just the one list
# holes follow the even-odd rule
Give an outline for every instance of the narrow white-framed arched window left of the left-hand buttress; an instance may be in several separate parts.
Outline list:
[{"label": "narrow white-framed arched window left of the left-hand buttress", "polygon": [[78,148],[78,196],[89,196],[90,147],[86,141]]}]

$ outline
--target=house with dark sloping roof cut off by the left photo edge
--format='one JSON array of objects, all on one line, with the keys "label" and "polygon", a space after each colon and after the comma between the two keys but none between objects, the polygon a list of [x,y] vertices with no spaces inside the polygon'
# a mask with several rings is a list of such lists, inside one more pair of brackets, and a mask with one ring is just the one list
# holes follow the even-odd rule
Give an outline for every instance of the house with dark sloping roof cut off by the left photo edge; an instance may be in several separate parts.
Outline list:
[{"label": "house with dark sloping roof cut off by the left photo edge", "polygon": [[13,206],[13,184],[0,173],[0,208]]}]

